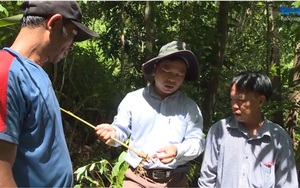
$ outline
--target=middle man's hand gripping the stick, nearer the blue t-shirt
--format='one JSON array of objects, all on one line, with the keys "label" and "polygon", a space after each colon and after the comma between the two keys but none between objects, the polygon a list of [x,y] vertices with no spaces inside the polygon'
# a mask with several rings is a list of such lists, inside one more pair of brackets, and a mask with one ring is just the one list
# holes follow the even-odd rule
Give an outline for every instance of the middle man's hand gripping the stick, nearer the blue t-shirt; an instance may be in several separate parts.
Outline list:
[{"label": "middle man's hand gripping the stick, nearer the blue t-shirt", "polygon": [[107,145],[113,141],[111,139],[111,137],[113,137],[113,138],[116,137],[115,129],[113,128],[112,125],[107,124],[107,123],[97,125],[95,127],[95,132],[96,132],[96,135],[98,136],[98,138],[100,140],[102,140],[103,142],[105,142],[105,144],[107,144]]}]

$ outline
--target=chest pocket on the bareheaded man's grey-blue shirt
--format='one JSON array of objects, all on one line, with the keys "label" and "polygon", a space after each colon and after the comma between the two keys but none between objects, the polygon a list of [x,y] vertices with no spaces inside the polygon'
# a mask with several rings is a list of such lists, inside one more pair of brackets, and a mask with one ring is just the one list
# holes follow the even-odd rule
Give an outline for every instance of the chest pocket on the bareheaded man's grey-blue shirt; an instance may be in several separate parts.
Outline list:
[{"label": "chest pocket on the bareheaded man's grey-blue shirt", "polygon": [[275,165],[274,164],[266,165],[266,163],[261,162],[260,170],[261,170],[262,187],[263,188],[274,187],[274,185],[275,185]]}]

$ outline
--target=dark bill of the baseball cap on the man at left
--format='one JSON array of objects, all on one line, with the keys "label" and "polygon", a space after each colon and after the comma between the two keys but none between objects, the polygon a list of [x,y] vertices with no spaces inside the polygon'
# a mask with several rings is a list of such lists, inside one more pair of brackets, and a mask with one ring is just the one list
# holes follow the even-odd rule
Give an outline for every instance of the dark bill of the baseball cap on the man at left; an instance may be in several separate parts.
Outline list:
[{"label": "dark bill of the baseball cap on the man at left", "polygon": [[74,41],[75,42],[81,42],[90,38],[96,38],[99,37],[99,35],[97,33],[95,33],[94,31],[90,30],[88,27],[86,27],[85,25],[83,25],[82,23],[79,23],[77,21],[71,20],[76,27],[79,29],[77,31],[77,35],[74,37]]}]

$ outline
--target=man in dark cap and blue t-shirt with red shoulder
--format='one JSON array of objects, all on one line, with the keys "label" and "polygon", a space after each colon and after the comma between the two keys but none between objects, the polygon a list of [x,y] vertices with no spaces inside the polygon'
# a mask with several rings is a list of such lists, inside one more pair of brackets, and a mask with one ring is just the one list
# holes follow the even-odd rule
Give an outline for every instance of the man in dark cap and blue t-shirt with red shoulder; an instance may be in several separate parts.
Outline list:
[{"label": "man in dark cap and blue t-shirt with red shoulder", "polygon": [[98,35],[76,1],[26,1],[21,30],[0,51],[0,187],[72,187],[61,113],[42,66]]}]

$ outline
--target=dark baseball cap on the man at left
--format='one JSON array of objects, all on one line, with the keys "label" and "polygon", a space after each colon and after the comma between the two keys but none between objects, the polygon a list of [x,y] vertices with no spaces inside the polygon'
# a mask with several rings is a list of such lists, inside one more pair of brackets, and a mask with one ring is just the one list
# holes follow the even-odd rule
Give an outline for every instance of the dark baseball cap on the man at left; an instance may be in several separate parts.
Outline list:
[{"label": "dark baseball cap on the man at left", "polygon": [[99,37],[97,33],[81,23],[82,12],[76,1],[25,1],[20,8],[24,10],[23,16],[47,17],[61,14],[77,26],[78,33],[74,37],[75,42]]}]

